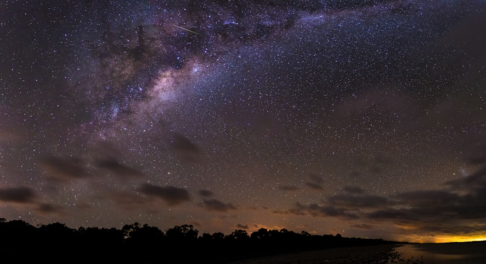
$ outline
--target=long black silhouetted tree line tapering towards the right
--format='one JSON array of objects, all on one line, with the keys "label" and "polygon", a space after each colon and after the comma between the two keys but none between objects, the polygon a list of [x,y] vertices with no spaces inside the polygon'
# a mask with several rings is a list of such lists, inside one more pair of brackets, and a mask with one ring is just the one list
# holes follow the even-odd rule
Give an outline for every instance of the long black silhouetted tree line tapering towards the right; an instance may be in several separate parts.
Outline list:
[{"label": "long black silhouetted tree line tapering towards the right", "polygon": [[192,225],[164,231],[147,224],[121,229],[80,227],[52,223],[34,227],[22,220],[0,218],[0,252],[18,262],[47,260],[50,263],[227,263],[277,253],[341,246],[392,244],[382,239],[346,238],[337,235],[296,233],[287,229],[259,229],[248,234],[236,229],[203,233]]}]

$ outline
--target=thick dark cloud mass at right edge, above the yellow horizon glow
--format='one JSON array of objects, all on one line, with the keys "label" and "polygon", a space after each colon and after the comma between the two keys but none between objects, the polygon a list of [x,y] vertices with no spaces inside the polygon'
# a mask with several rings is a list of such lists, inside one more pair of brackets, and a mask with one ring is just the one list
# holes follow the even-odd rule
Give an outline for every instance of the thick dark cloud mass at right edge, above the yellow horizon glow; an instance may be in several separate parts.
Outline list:
[{"label": "thick dark cloud mass at right edge, above the yellow horizon glow", "polygon": [[[483,168],[455,180],[449,190],[420,190],[391,195],[394,205],[364,214],[376,222],[401,223],[423,232],[480,234],[486,232],[486,185]],[[471,178],[473,180],[471,181]],[[476,182],[471,184],[471,182]],[[456,188],[467,186],[467,189]]]}]

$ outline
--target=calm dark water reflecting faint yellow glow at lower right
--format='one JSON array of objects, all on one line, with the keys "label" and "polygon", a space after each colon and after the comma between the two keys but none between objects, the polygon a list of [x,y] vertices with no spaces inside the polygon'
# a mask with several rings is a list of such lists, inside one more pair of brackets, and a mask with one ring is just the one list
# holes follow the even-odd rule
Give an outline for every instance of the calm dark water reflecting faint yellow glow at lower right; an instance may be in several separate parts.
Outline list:
[{"label": "calm dark water reflecting faint yellow glow at lower right", "polygon": [[485,264],[486,242],[408,244],[395,248],[409,264]]}]

